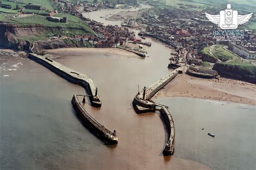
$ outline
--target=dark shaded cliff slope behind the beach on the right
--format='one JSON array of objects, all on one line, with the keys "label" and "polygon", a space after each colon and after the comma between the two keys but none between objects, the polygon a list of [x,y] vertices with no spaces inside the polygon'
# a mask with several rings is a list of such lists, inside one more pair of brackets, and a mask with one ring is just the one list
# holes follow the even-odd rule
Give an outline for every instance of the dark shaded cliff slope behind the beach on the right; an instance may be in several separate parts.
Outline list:
[{"label": "dark shaded cliff slope behind the beach on the right", "polygon": [[224,63],[215,63],[214,70],[223,77],[256,83],[256,66],[236,66]]}]

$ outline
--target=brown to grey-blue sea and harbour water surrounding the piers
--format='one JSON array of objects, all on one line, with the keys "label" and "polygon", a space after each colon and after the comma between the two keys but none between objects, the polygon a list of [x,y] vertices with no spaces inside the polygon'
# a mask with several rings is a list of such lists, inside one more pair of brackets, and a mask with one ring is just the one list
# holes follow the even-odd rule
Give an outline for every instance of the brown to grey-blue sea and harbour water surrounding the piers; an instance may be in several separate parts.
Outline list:
[{"label": "brown to grey-blue sea and harbour water surrounding the piers", "polygon": [[152,47],[146,47],[145,59],[119,49],[50,51],[95,81],[102,108],[86,110],[117,130],[115,147],[104,145],[76,117],[70,100],[85,93],[82,87],[29,59],[1,57],[0,169],[254,169],[256,109],[244,104],[158,99],[169,106],[176,127],[175,153],[163,157],[166,133],[159,113],[137,115],[131,102],[138,84],[149,86],[171,71],[172,49],[146,41]]}]

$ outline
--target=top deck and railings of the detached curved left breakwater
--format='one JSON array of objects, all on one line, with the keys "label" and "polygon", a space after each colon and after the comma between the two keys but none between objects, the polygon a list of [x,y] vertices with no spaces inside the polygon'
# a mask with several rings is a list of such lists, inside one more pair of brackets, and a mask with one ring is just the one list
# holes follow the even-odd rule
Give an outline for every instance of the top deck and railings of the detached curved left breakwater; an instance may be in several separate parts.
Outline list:
[{"label": "top deck and railings of the detached curved left breakwater", "polygon": [[104,134],[106,134],[109,138],[115,139],[117,137],[116,132],[111,132],[110,130],[106,129],[104,125],[97,122],[88,112],[84,109],[82,104],[79,102],[77,95],[74,95],[73,98],[75,99],[76,104],[78,104],[78,109],[80,112],[84,115],[84,117],[98,130],[102,131]]}]

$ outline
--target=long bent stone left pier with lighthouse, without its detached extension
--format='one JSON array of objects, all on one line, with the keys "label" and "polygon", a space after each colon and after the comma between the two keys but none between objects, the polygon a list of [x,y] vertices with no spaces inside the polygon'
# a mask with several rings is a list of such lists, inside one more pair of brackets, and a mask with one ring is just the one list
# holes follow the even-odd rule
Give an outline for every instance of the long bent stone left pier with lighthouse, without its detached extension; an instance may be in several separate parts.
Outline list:
[{"label": "long bent stone left pier with lighthouse, without its detached extension", "polygon": [[69,82],[82,86],[89,95],[92,107],[98,108],[102,105],[98,95],[98,89],[89,75],[77,73],[75,70],[65,67],[42,55],[30,53],[28,58],[40,63]]}]

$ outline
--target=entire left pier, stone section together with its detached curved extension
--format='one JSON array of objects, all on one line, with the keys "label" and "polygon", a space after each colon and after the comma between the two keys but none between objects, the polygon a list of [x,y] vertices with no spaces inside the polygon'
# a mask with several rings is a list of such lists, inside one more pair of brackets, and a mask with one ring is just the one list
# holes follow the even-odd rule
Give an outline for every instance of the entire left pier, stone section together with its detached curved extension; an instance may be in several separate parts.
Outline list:
[{"label": "entire left pier, stone section together with its detached curved extension", "polygon": [[[82,95],[84,96],[82,103],[85,103],[85,96],[87,96],[89,97],[92,107],[101,107],[102,103],[99,99],[98,88],[95,86],[95,83],[89,75],[80,74],[75,70],[65,67],[60,63],[53,61],[48,57],[42,55],[30,53],[28,58],[40,63],[44,67],[50,69],[52,72],[63,77],[69,82],[82,86],[88,94]],[[109,145],[117,144],[118,138],[116,130],[111,132],[110,130],[105,128],[104,125],[100,124],[93,117],[91,117],[91,115],[88,114],[88,112],[84,109],[83,105],[78,100],[78,96],[81,95],[73,95],[71,99],[71,104],[73,108],[76,110],[78,116],[82,118],[82,121],[85,123],[85,125],[91,131],[93,131],[93,133],[95,133],[98,138],[102,139],[104,143]]]}]

